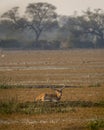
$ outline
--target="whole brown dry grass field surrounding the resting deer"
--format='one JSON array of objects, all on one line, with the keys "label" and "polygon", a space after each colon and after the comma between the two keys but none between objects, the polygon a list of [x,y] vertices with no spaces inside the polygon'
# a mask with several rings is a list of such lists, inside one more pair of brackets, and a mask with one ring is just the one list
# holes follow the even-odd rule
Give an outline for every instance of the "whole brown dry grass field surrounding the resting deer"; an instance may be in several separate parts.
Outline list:
[{"label": "whole brown dry grass field surrounding the resting deer", "polygon": [[[63,84],[59,103],[34,102]],[[1,51],[0,85],[16,85],[0,89],[0,130],[104,129],[103,49]]]}]

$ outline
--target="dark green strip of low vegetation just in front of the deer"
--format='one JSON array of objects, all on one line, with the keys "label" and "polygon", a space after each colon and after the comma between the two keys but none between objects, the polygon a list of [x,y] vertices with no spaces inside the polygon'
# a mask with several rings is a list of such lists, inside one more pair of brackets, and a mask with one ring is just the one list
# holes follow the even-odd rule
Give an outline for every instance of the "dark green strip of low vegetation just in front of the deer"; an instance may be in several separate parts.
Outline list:
[{"label": "dark green strip of low vegetation just in front of the deer", "polygon": [[18,98],[10,98],[0,101],[0,113],[23,113],[23,114],[44,114],[44,113],[66,113],[76,112],[76,107],[103,107],[104,102],[87,101],[60,101],[60,102],[24,102],[19,103]]}]

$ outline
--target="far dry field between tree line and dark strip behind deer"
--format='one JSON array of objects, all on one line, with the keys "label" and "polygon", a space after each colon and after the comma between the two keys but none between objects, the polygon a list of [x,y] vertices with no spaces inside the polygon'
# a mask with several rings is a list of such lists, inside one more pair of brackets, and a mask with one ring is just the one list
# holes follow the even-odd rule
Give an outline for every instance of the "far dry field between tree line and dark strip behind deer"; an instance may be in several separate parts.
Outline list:
[{"label": "far dry field between tree line and dark strip behind deer", "polygon": [[104,50],[3,51],[0,84],[75,85],[104,83]]}]

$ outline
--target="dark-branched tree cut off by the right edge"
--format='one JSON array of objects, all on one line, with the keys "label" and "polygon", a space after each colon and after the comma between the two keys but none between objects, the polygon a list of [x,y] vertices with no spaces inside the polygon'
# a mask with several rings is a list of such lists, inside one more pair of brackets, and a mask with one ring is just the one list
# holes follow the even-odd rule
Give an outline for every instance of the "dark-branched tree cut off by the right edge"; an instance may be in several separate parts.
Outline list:
[{"label": "dark-branched tree cut off by the right edge", "polygon": [[86,33],[94,38],[96,47],[97,42],[104,47],[104,12],[101,9],[88,9],[84,12],[83,22],[85,22]]}]

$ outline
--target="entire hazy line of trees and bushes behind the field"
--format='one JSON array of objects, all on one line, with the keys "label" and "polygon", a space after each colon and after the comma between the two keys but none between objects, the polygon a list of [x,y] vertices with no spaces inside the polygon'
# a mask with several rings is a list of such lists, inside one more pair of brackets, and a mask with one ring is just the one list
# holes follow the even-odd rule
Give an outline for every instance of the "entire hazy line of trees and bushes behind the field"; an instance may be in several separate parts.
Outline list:
[{"label": "entire hazy line of trees and bushes behind the field", "polygon": [[49,3],[30,3],[0,17],[0,48],[69,49],[104,47],[104,11],[88,8],[81,15],[63,16]]}]

